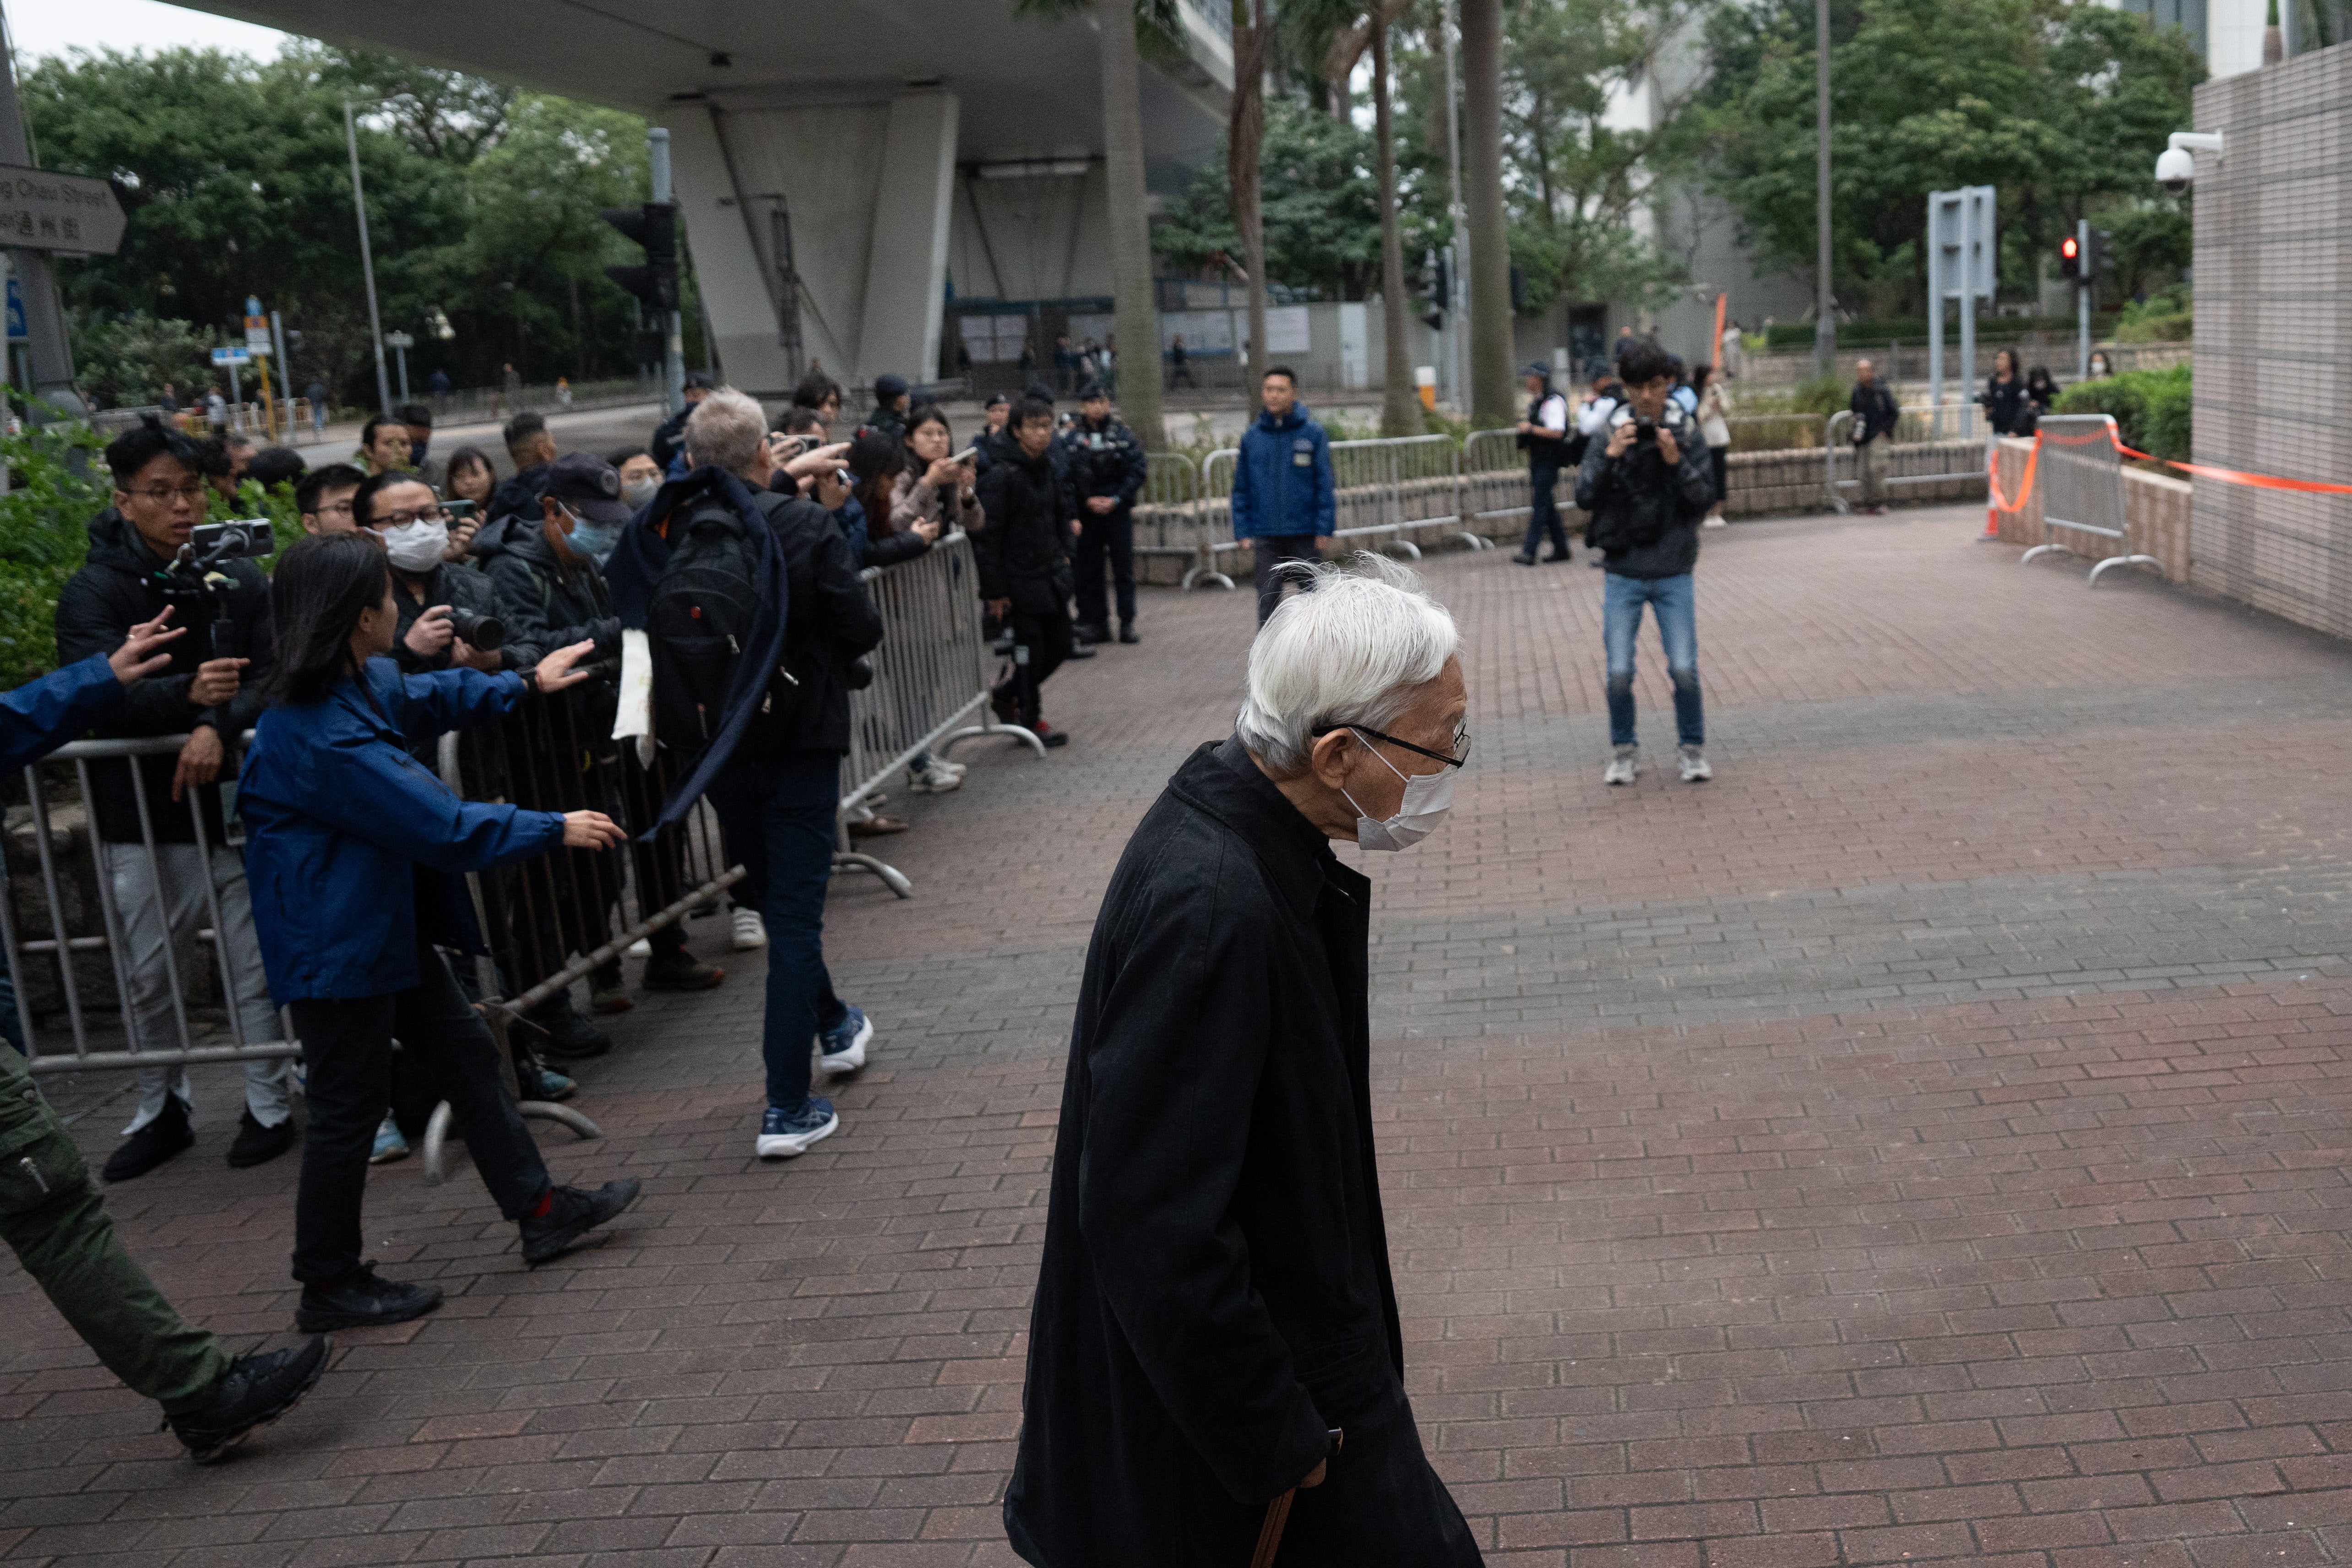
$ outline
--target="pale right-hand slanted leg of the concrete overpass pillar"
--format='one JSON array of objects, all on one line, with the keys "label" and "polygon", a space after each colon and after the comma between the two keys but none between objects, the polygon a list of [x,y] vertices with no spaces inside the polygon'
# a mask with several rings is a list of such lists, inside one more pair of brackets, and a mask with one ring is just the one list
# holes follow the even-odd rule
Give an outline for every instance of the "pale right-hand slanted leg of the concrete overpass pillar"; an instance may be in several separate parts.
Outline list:
[{"label": "pale right-hand slanted leg of the concrete overpass pillar", "polygon": [[908,381],[938,376],[957,118],[960,103],[946,89],[908,92],[889,106],[858,329],[866,381],[882,371]]}]

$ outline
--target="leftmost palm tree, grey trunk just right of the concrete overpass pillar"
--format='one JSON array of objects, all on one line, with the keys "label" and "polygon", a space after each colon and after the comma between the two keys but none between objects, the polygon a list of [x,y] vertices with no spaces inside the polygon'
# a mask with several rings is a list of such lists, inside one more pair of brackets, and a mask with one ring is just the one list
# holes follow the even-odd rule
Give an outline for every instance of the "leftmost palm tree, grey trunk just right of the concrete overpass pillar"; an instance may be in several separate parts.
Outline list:
[{"label": "leftmost palm tree, grey trunk just right of the concrete overpass pillar", "polygon": [[1120,336],[1120,411],[1148,451],[1169,444],[1160,411],[1160,301],[1152,292],[1152,219],[1143,190],[1143,63],[1136,28],[1174,31],[1174,0],[1016,0],[1042,19],[1094,12],[1103,35],[1103,176],[1110,205],[1110,289]]}]

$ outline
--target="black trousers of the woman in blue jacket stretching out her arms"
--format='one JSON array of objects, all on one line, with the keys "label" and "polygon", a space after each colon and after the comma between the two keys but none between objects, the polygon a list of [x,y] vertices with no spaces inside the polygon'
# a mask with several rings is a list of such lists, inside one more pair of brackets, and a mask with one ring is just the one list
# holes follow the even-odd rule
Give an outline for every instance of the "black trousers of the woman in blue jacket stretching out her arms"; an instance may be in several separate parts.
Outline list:
[{"label": "black trousers of the woman in blue jacket stretching out her arms", "polygon": [[360,1267],[360,1201],[376,1126],[393,1095],[395,1037],[435,1098],[456,1112],[473,1168],[499,1213],[520,1220],[548,1190],[548,1166],[515,1110],[489,1025],[466,1006],[449,966],[423,940],[416,943],[416,971],[421,978],[405,992],[292,1009],[310,1065],[310,1128],[294,1194],[294,1279],[303,1284]]}]

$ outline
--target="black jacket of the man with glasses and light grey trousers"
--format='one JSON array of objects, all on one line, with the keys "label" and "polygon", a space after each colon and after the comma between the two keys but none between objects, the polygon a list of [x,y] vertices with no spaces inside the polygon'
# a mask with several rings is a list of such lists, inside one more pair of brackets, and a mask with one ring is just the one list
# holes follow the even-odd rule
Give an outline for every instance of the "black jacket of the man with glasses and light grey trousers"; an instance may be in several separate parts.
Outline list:
[{"label": "black jacket of the man with glasses and light grey trousers", "polygon": [[[261,569],[245,559],[223,562],[221,571],[233,583],[221,595],[221,609],[230,621],[228,654],[212,649],[212,607],[205,595],[167,595],[165,559],[139,538],[129,517],[106,508],[89,520],[89,557],[56,595],[56,663],[71,665],[92,654],[113,654],[134,623],[153,621],[165,604],[176,604],[172,625],[186,625],[188,632],[169,644],[169,672],[151,675],[125,691],[122,705],[106,724],[99,724],[96,733],[103,738],[179,736],[216,719],[221,743],[230,750],[221,776],[235,778],[238,738],[261,717],[259,689],[270,670],[270,585]],[[193,708],[188,686],[195,682],[195,668],[207,658],[223,656],[252,661],[245,665],[238,696],[219,712]],[[188,802],[172,799],[176,769],[179,759],[169,752],[139,764],[158,844],[195,844],[195,818]],[[89,764],[89,790],[99,839],[139,844],[139,797],[129,766],[122,762]],[[205,802],[205,839],[221,844],[221,792],[214,788],[195,795]]]}]

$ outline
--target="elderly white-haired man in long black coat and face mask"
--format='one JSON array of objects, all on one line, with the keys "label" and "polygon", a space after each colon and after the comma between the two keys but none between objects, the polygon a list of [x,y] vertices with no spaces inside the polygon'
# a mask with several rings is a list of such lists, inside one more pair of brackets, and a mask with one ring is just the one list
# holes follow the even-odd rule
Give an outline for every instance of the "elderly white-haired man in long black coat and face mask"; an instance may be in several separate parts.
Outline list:
[{"label": "elderly white-haired man in long black coat and face mask", "polygon": [[[1303,569],[1298,569],[1303,571]],[[1040,1568],[1451,1568],[1374,1168],[1371,884],[1444,820],[1458,632],[1378,557],[1315,569],[1232,738],[1136,827],[1087,952],[1004,1528]],[[1287,1530],[1287,1535],[1284,1535]]]}]

